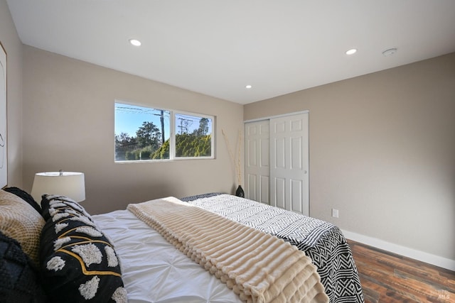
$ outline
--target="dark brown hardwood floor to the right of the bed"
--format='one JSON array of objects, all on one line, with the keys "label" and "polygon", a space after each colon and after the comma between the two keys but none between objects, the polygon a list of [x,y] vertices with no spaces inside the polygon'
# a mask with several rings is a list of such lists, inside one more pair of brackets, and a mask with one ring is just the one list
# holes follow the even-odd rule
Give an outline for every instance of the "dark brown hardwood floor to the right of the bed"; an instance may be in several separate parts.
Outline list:
[{"label": "dark brown hardwood floor to the right of the bed", "polygon": [[348,240],[365,303],[455,302],[455,272]]}]

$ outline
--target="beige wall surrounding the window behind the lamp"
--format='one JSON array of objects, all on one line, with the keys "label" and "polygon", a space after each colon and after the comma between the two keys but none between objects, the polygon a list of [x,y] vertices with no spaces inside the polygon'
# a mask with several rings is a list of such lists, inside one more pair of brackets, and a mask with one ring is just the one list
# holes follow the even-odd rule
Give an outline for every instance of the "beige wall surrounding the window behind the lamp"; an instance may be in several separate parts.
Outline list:
[{"label": "beige wall surrounding the window behind the lamp", "polygon": [[[92,214],[128,203],[232,192],[235,174],[221,130],[235,142],[243,106],[87,62],[23,48],[23,180],[36,172],[85,172]],[[215,160],[114,163],[114,100],[214,115]]]}]

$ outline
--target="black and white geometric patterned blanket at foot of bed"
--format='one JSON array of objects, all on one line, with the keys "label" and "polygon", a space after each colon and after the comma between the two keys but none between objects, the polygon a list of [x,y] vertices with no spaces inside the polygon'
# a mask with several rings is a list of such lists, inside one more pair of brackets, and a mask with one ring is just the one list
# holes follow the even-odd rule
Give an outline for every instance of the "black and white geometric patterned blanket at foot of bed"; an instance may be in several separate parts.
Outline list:
[{"label": "black and white geometric patterned blanket at foot of bed", "polygon": [[364,302],[353,255],[337,226],[230,194],[202,194],[182,200],[271,233],[303,250],[318,268],[330,302]]}]

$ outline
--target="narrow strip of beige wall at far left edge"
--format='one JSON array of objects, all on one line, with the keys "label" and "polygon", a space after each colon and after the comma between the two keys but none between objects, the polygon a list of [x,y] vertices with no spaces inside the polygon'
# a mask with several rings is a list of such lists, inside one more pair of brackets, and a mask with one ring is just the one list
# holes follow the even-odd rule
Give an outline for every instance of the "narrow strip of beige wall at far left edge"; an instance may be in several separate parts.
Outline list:
[{"label": "narrow strip of beige wall at far left edge", "polygon": [[0,0],[0,42],[7,55],[8,185],[22,186],[22,43],[5,0]]}]

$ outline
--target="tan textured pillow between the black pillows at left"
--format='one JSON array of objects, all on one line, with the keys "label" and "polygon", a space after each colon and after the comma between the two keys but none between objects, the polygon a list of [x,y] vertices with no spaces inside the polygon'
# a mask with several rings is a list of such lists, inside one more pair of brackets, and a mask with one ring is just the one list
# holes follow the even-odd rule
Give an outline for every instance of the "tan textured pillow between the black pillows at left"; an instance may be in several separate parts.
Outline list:
[{"label": "tan textured pillow between the black pillows at left", "polygon": [[0,231],[21,244],[22,250],[39,264],[41,230],[45,221],[20,197],[0,189]]}]

